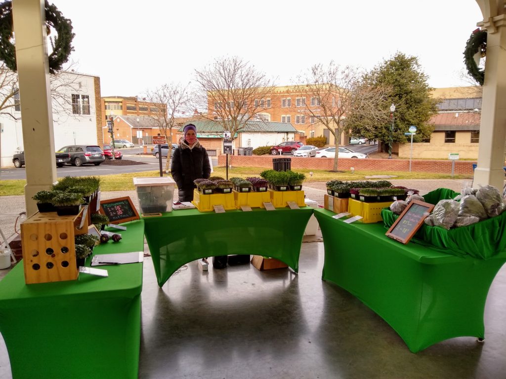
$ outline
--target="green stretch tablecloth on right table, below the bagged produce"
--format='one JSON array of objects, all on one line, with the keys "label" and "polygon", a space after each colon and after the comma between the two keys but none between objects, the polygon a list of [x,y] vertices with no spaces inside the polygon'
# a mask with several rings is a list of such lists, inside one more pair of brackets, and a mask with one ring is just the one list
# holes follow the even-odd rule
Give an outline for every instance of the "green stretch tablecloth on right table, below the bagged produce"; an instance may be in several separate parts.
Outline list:
[{"label": "green stretch tablecloth on right table, below the bagged produce", "polygon": [[484,337],[490,284],[506,261],[457,257],[389,239],[383,223],[347,224],[315,209],[325,245],[323,279],[349,291],[417,352],[460,336]]}]

